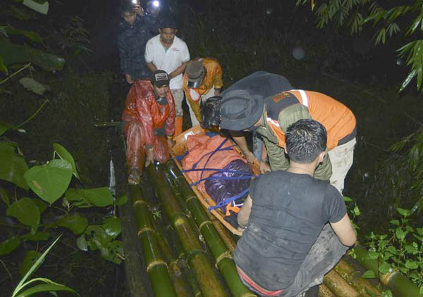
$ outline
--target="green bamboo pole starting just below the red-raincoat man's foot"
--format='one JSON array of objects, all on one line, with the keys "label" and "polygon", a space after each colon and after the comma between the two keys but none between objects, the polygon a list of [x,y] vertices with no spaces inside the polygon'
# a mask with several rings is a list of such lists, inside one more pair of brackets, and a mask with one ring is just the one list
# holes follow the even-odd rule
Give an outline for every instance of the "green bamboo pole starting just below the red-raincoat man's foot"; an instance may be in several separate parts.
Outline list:
[{"label": "green bamboo pole starting just below the red-raincoat man's foot", "polygon": [[152,222],[149,220],[147,203],[142,200],[142,193],[139,187],[128,187],[129,196],[133,201],[135,221],[137,223],[138,236],[142,244],[142,251],[145,255],[147,273],[152,283],[154,296],[176,297],[171,278],[163,257],[160,253],[159,244],[154,236]]}]

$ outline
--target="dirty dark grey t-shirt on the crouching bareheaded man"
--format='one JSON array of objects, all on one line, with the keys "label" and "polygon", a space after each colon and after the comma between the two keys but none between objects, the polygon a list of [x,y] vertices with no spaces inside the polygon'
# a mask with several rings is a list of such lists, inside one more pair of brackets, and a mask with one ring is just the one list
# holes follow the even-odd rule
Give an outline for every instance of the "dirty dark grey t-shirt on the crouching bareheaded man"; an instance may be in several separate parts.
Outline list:
[{"label": "dirty dark grey t-shirt on the crouching bareheaded man", "polygon": [[345,203],[330,184],[286,171],[256,179],[250,197],[250,219],[233,258],[264,289],[285,289],[324,225],[343,218]]}]

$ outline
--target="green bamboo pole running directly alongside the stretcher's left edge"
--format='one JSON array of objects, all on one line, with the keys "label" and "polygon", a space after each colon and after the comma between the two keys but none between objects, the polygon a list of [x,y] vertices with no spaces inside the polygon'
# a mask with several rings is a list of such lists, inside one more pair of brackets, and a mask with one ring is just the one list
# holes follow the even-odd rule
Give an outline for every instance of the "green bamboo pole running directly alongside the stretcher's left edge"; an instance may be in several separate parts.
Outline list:
[{"label": "green bamboo pole running directly alongside the stretcher's left edge", "polygon": [[225,242],[219,236],[219,232],[216,231],[213,222],[209,220],[202,204],[198,201],[197,196],[195,196],[188,182],[186,182],[175,163],[168,163],[168,170],[171,172],[171,177],[175,178],[178,184],[178,189],[173,187],[173,191],[177,192],[179,190],[180,194],[182,194],[185,198],[185,203],[187,204],[192,217],[194,217],[195,223],[199,227],[200,232],[213,255],[216,266],[221,272],[222,277],[229,288],[229,291],[231,291],[232,295],[235,297],[255,296],[255,294],[247,289],[243,282],[241,282],[235,263],[231,258],[231,251],[228,250]]}]

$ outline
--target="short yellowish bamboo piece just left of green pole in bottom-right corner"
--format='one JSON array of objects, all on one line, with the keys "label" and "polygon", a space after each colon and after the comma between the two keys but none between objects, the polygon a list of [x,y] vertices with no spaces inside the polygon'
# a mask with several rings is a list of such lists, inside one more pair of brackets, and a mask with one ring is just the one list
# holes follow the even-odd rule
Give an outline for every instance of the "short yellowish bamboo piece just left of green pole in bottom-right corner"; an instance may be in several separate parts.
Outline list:
[{"label": "short yellowish bamboo piece just left of green pole in bottom-right corner", "polygon": [[361,278],[361,272],[354,269],[353,266],[348,264],[345,260],[341,259],[335,266],[336,272],[345,279],[348,284],[353,286],[362,296],[372,295],[369,292],[373,292],[372,296],[381,296],[381,291],[367,281],[367,279]]}]

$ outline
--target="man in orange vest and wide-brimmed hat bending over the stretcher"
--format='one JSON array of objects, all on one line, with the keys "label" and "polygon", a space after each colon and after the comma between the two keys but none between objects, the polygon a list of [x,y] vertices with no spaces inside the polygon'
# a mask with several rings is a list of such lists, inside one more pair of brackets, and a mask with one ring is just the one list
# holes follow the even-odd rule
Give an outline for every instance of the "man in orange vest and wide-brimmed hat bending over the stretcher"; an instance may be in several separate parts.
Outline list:
[{"label": "man in orange vest and wide-brimmed hat bending over the stretcher", "polygon": [[[235,89],[225,92],[222,97],[220,128],[237,132],[253,130],[260,134],[266,147],[261,162],[266,161],[268,156],[272,171],[286,170],[289,166],[284,150],[286,128],[300,119],[321,122],[328,133],[329,153],[317,167],[314,177],[330,180],[342,193],[344,179],[353,165],[356,143],[355,116],[343,103],[325,94],[297,89],[267,97]],[[234,140],[241,149],[248,151],[246,145],[243,148],[242,141],[239,141],[242,138],[235,136]]]}]

